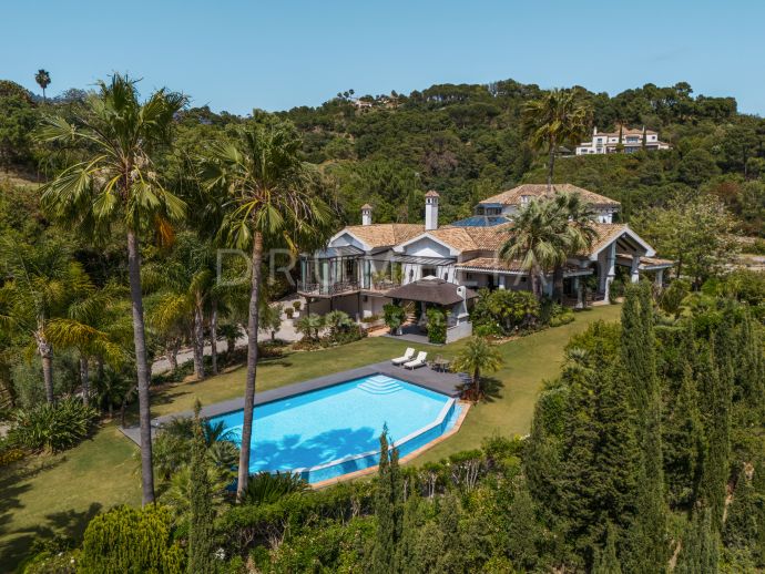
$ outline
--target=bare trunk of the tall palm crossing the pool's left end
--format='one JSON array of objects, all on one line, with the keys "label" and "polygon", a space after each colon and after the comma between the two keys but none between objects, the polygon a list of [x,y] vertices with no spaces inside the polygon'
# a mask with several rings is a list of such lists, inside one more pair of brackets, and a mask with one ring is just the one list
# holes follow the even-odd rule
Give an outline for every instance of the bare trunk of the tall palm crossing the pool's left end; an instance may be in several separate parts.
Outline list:
[{"label": "bare trunk of the tall palm crossing the pool's left end", "polygon": [[249,317],[247,321],[247,377],[244,383],[244,422],[236,499],[242,501],[249,479],[249,447],[253,437],[253,409],[255,407],[255,378],[257,375],[258,298],[261,291],[261,264],[263,263],[263,235],[255,232],[253,240],[253,277],[249,290]]}]

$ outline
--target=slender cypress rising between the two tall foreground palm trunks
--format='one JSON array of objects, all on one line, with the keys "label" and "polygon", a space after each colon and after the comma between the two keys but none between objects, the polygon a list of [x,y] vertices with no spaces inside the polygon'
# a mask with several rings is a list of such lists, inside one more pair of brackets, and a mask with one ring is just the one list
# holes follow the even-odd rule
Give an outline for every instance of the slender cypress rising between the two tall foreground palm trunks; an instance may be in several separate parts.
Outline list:
[{"label": "slender cypress rising between the two tall foreground palm trunks", "polygon": [[194,438],[192,440],[188,525],[188,572],[208,574],[215,572],[214,531],[215,511],[212,505],[213,491],[210,483],[207,448],[204,439],[201,404],[194,406]]}]

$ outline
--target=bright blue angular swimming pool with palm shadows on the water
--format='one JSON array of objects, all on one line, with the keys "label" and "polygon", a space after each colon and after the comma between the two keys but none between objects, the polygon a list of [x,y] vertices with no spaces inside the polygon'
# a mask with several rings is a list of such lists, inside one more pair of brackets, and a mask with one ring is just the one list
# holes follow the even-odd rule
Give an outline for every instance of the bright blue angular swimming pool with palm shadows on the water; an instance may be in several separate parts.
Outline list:
[{"label": "bright blue angular swimming pool with palm shadows on the water", "polygon": [[[292,471],[310,483],[374,467],[388,433],[405,457],[450,430],[459,417],[446,394],[373,375],[255,407],[251,472]],[[241,444],[244,411],[213,417]]]}]

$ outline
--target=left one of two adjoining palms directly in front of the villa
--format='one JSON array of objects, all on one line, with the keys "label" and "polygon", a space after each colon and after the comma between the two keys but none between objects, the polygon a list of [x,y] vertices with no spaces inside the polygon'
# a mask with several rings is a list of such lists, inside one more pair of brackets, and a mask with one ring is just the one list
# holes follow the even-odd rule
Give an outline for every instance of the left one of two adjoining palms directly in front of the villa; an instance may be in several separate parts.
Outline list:
[{"label": "left one of two adjoining palms directly in front of the villa", "polygon": [[512,230],[499,249],[499,257],[519,262],[531,277],[531,291],[542,297],[541,280],[550,269],[565,264],[570,239],[561,234],[561,212],[554,202],[534,199],[514,216]]}]

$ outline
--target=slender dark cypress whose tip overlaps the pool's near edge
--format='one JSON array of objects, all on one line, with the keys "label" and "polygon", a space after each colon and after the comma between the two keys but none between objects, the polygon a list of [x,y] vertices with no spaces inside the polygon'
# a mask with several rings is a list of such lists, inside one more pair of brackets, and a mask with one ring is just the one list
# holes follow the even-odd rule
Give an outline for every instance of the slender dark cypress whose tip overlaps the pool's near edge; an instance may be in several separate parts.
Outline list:
[{"label": "slender dark cypress whose tip overlaps the pool's near edge", "polygon": [[387,434],[388,429],[385,428],[380,434],[380,463],[375,494],[377,534],[370,567],[376,574],[399,572],[397,557],[404,522],[404,489],[398,467],[398,449],[394,448],[389,451]]}]

